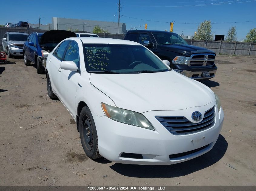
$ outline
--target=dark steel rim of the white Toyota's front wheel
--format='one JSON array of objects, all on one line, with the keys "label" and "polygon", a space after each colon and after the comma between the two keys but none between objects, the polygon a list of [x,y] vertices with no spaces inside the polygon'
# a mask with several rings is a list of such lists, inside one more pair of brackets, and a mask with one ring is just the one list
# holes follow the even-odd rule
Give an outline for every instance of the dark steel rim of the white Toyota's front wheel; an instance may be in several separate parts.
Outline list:
[{"label": "dark steel rim of the white Toyota's front wheel", "polygon": [[90,151],[93,147],[93,133],[91,128],[91,121],[87,115],[82,117],[82,129],[83,129],[83,138],[85,140],[85,147],[88,151]]}]

